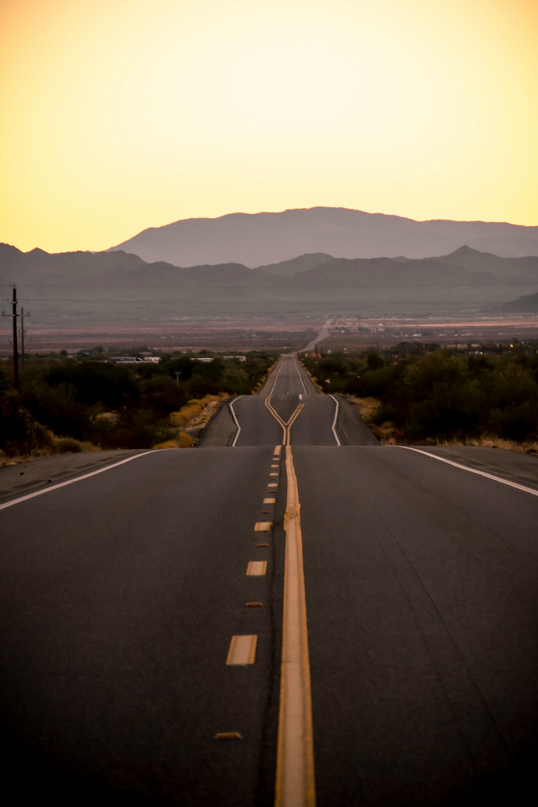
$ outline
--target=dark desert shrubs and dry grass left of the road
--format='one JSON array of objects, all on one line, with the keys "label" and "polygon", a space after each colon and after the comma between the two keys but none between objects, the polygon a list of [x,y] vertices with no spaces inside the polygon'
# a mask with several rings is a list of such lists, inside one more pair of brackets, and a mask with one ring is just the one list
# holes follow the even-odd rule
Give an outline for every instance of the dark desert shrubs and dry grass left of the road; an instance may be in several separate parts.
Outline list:
[{"label": "dark desert shrubs and dry grass left of the road", "polygon": [[19,390],[0,370],[0,452],[10,458],[192,445],[181,429],[227,395],[255,390],[275,358],[254,352],[240,362],[202,351],[121,365],[96,349],[27,360]]}]

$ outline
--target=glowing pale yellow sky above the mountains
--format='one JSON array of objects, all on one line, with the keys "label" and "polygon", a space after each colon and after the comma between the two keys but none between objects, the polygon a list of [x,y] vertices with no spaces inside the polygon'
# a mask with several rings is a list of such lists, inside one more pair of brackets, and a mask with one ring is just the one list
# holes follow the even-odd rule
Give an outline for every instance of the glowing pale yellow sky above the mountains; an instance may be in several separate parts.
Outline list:
[{"label": "glowing pale yellow sky above the mountains", "polygon": [[538,225],[536,0],[0,0],[0,240],[351,207]]}]

